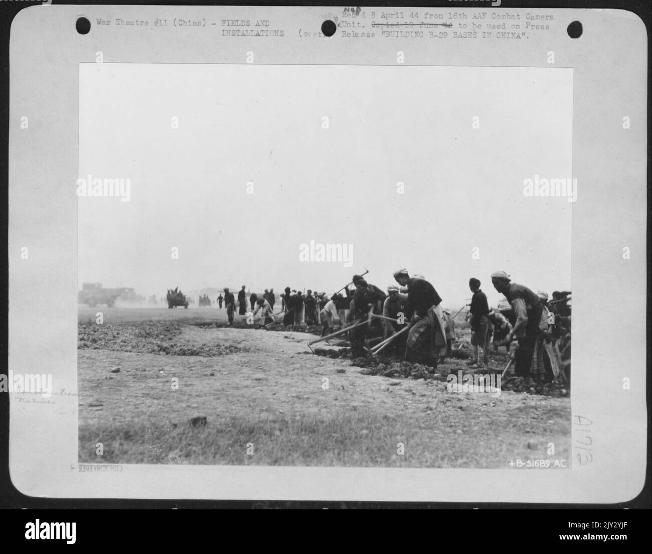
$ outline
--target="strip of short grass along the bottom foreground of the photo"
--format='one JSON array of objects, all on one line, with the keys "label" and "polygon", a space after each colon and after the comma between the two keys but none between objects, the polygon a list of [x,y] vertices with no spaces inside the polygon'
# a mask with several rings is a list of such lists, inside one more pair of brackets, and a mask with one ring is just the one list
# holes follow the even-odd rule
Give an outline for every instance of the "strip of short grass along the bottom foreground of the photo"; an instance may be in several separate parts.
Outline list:
[{"label": "strip of short grass along the bottom foreground of the photo", "polygon": [[[543,436],[563,446],[569,429],[553,428],[566,415],[563,407],[521,406],[489,420],[480,418],[481,410],[464,410],[452,402],[416,421],[372,410],[329,417],[228,416],[205,427],[132,421],[83,427],[80,444],[106,444],[106,463],[506,468],[516,458],[565,459],[567,448],[552,457],[536,452],[547,446]],[[552,419],[542,419],[543,413]],[[92,446],[80,454],[80,461],[100,461]]]}]

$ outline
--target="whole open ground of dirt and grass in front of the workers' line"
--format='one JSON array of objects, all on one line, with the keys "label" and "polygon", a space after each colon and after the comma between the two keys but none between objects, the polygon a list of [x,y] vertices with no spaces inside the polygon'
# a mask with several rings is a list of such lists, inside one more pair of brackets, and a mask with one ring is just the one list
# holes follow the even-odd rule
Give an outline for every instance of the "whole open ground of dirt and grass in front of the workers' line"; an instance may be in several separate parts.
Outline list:
[{"label": "whole open ground of dirt and grass in front of the workers' line", "polygon": [[[464,360],[413,378],[422,375],[402,371],[398,361],[385,360],[379,370],[358,367],[349,358],[312,354],[310,333],[246,328],[236,320],[241,328],[224,326],[226,310],[217,308],[80,307],[80,461],[571,465],[567,396],[449,392],[446,377],[466,371]],[[493,373],[508,360],[501,351],[490,362]],[[96,455],[97,442],[103,455]]]}]

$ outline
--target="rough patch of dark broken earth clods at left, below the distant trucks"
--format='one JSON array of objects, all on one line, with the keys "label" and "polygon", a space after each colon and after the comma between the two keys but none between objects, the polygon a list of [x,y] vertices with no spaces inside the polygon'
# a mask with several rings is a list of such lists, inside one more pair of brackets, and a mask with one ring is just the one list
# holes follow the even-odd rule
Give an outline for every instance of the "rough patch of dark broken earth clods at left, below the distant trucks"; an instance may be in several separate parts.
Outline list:
[{"label": "rough patch of dark broken earth clods at left, below the distant trucks", "polygon": [[181,338],[181,325],[156,321],[119,325],[78,324],[77,348],[205,358],[248,351],[232,345],[188,344]]}]

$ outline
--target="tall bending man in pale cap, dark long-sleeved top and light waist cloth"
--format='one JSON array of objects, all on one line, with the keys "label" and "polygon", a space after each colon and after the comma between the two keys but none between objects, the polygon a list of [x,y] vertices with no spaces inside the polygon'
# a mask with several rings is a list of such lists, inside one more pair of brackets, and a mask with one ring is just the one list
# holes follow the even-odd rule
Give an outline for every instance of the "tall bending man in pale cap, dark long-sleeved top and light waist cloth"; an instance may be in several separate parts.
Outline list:
[{"label": "tall bending man in pale cap, dark long-sleeved top and light waist cloth", "polygon": [[[409,277],[405,268],[394,271],[400,286],[408,287],[408,342],[406,360],[437,367],[437,360],[446,352],[446,324],[441,311],[441,297],[425,279]],[[427,353],[423,346],[428,345]]]}]

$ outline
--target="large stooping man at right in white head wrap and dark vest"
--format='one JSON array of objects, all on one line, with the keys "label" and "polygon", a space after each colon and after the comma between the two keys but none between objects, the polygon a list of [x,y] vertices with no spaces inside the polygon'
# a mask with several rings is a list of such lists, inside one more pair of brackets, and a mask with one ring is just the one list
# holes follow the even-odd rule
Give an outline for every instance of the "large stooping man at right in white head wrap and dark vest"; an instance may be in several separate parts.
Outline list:
[{"label": "large stooping man at right in white head wrap and dark vest", "polygon": [[535,359],[537,340],[541,338],[542,305],[539,296],[527,286],[511,283],[511,278],[505,271],[496,271],[491,276],[492,285],[514,310],[516,323],[507,333],[505,340],[510,342],[516,338],[518,347],[514,352],[514,369],[518,377],[532,377],[543,380],[545,369],[542,360]]}]

